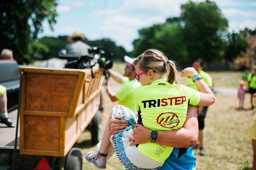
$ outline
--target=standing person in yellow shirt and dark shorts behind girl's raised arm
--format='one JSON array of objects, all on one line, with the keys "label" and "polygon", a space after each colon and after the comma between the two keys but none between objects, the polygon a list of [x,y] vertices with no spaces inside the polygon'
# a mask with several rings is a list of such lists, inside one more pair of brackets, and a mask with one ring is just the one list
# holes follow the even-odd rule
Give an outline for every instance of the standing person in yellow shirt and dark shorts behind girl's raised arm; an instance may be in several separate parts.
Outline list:
[{"label": "standing person in yellow shirt and dark shorts behind girl's raised arm", "polygon": [[[195,68],[195,70],[198,72],[198,74],[200,74],[203,77],[204,82],[207,84],[207,86],[209,86],[209,88],[212,88],[212,77],[209,76],[209,74],[207,74],[206,72],[204,72],[203,69],[203,61],[202,59],[196,59],[193,64],[192,67]],[[192,79],[188,79],[188,87],[198,90],[197,86],[195,85],[195,83],[193,83]],[[204,149],[204,132],[203,132],[203,128],[205,126],[204,124],[204,120],[206,117],[206,112],[207,112],[208,106],[199,106],[198,107],[198,144],[196,147],[200,147],[200,151],[199,154],[200,155],[205,155],[205,149]]]}]

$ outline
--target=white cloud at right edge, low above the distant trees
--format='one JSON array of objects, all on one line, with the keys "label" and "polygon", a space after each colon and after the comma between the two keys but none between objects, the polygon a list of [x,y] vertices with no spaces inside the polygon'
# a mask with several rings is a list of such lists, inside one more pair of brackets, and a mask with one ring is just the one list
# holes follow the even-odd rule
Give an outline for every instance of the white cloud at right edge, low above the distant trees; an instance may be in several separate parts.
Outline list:
[{"label": "white cloud at right edge, low above the distant trees", "polygon": [[239,30],[243,30],[246,27],[252,30],[256,29],[256,20],[246,19],[239,23],[237,21],[231,21],[228,30],[229,32],[239,32]]}]

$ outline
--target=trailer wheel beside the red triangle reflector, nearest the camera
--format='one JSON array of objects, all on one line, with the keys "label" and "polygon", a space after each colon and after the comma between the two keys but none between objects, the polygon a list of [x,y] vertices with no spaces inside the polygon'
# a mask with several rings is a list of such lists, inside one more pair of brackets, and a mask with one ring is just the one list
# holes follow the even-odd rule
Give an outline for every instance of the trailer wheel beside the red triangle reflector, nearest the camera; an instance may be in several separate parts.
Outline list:
[{"label": "trailer wheel beside the red triangle reflector, nearest the camera", "polygon": [[82,170],[83,158],[80,148],[71,148],[66,155],[64,170]]}]

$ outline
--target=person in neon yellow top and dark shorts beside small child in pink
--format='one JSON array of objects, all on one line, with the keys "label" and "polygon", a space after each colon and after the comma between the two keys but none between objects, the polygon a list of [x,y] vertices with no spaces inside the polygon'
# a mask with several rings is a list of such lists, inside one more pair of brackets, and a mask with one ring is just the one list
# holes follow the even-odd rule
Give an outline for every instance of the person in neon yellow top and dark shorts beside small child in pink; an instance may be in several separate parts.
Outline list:
[{"label": "person in neon yellow top and dark shorts beside small child in pink", "polygon": [[252,72],[249,72],[248,77],[248,91],[251,94],[251,109],[254,108],[253,106],[253,94],[256,93],[256,66],[253,66]]}]

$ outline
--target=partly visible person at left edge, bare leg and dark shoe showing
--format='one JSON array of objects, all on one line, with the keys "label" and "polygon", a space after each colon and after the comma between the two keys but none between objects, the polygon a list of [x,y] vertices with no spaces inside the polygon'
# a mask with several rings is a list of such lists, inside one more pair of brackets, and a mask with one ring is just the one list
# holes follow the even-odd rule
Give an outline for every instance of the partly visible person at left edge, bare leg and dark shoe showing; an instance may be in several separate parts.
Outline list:
[{"label": "partly visible person at left edge, bare leg and dark shoe showing", "polygon": [[6,88],[0,85],[0,123],[4,123],[8,127],[12,126],[12,121],[7,113],[7,95]]}]

